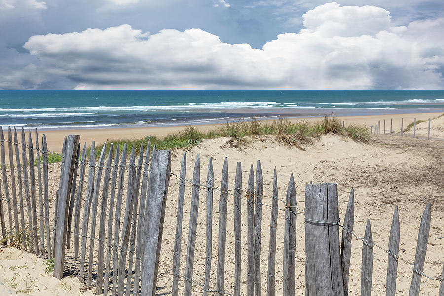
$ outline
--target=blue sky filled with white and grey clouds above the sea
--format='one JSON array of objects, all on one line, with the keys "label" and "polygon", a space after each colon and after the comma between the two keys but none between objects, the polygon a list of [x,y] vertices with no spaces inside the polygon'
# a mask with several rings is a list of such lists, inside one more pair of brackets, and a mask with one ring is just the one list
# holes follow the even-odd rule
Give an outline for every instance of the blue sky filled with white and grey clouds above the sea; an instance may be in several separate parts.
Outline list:
[{"label": "blue sky filled with white and grey clouds above the sea", "polygon": [[443,0],[0,0],[0,89],[444,89]]}]

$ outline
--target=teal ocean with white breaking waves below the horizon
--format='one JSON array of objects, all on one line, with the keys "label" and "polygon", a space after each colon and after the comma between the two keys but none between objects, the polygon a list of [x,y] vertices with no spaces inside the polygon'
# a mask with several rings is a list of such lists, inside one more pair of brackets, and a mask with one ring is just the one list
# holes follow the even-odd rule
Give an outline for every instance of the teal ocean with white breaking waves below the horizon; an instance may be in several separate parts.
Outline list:
[{"label": "teal ocean with white breaking waves below the horizon", "polygon": [[154,127],[249,119],[443,112],[444,90],[0,90],[0,125]]}]

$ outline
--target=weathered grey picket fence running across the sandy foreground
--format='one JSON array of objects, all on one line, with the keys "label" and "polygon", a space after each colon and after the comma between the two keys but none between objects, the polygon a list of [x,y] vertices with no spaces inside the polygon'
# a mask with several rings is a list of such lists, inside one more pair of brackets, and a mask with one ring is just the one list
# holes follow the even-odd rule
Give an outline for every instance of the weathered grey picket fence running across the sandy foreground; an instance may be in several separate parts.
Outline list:
[{"label": "weathered grey picket fence running across the sandy foreground", "polygon": [[[79,136],[70,135],[63,143],[62,164],[58,191],[55,196],[54,219],[49,216],[48,151],[43,135],[42,148],[39,148],[37,130],[36,147],[33,146],[29,133],[28,143],[22,130],[22,141],[18,143],[15,129],[8,130],[8,140],[1,134],[1,165],[4,195],[0,187],[0,217],[4,245],[13,245],[29,250],[38,256],[54,259],[54,276],[62,278],[67,272],[65,254],[69,262],[76,262],[76,273],[87,289],[95,289],[96,294],[104,295],[143,295],[156,294],[159,273],[159,258],[162,247],[165,204],[170,178],[178,178],[177,223],[174,250],[171,254],[171,272],[173,275],[172,295],[183,291],[185,296],[195,294],[193,289],[202,289],[206,296],[241,295],[241,269],[247,269],[247,294],[259,296],[266,285],[267,296],[274,296],[276,291],[276,270],[282,270],[282,294],[295,295],[296,267],[296,219],[302,218],[305,225],[305,279],[306,295],[348,295],[349,267],[352,237],[362,241],[361,295],[371,295],[373,252],[378,248],[388,255],[386,295],[395,295],[398,261],[404,261],[412,267],[412,279],[409,295],[418,295],[423,273],[425,254],[430,230],[430,204],[427,204],[419,229],[414,263],[398,257],[399,217],[395,208],[387,249],[376,245],[372,240],[371,222],[367,221],[364,237],[353,232],[354,193],[350,197],[343,223],[339,220],[337,185],[307,184],[305,188],[305,208],[296,204],[296,190],[293,175],[290,176],[285,199],[278,197],[277,175],[274,170],[273,194],[263,194],[263,177],[260,161],[256,170],[251,166],[246,190],[242,189],[242,164],[237,163],[234,183],[229,182],[228,160],[225,158],[222,168],[221,185],[214,184],[213,165],[210,159],[206,181],[201,181],[200,159],[196,158],[192,180],[186,178],[186,154],[182,158],[179,174],[171,172],[171,152],[156,150],[150,153],[150,144],[145,149],[139,148],[136,162],[136,147],[132,147],[127,161],[127,147],[109,147],[106,157],[106,145],[96,162],[95,144],[91,145],[89,161],[86,160],[86,143],[80,150]],[[14,139],[12,139],[14,135]],[[5,162],[5,144],[8,146],[9,169]],[[19,145],[22,153],[20,158]],[[13,149],[15,148],[15,149]],[[115,148],[115,149],[114,149]],[[114,152],[115,150],[115,152]],[[81,152],[80,152],[81,151]],[[16,165],[14,165],[14,152]],[[40,153],[42,161],[40,162]],[[37,179],[34,155],[37,156]],[[27,156],[29,160],[27,159]],[[151,158],[151,159],[150,159]],[[106,161],[106,162],[105,162]],[[28,163],[29,168],[28,168]],[[15,169],[14,169],[15,168]],[[17,179],[15,178],[17,171]],[[86,175],[86,170],[88,174]],[[125,173],[127,171],[127,177]],[[29,175],[28,175],[29,172]],[[43,176],[42,176],[43,175]],[[23,178],[22,178],[23,176]],[[85,178],[87,179],[85,184]],[[38,186],[37,186],[38,184]],[[186,246],[185,274],[180,273],[181,242],[184,191],[186,184],[192,186],[189,209],[188,243]],[[229,184],[234,184],[229,189]],[[16,185],[19,189],[17,201]],[[38,188],[38,198],[37,191]],[[9,191],[11,189],[11,192]],[[126,198],[124,191],[126,189]],[[23,191],[25,194],[23,194]],[[213,194],[219,195],[218,210],[213,209]],[[195,244],[198,225],[199,198],[205,197],[206,206],[206,254],[202,283],[193,279]],[[26,204],[23,202],[25,198]],[[272,200],[271,205],[264,203],[264,198]],[[37,211],[37,200],[39,211]],[[4,204],[8,210],[5,215]],[[227,206],[234,203],[234,246],[226,241]],[[242,265],[241,232],[242,205],[246,205],[247,216],[247,264]],[[262,215],[262,207],[269,208],[269,216]],[[124,212],[122,213],[122,210]],[[276,240],[278,211],[284,211],[284,241],[279,245]],[[19,213],[20,212],[20,213]],[[83,212],[83,214],[81,214]],[[219,221],[213,221],[213,214],[218,213]],[[39,216],[39,219],[37,217]],[[7,221],[9,227],[6,227]],[[26,220],[26,218],[28,218]],[[262,229],[263,219],[269,219],[270,229]],[[27,223],[25,222],[27,221]],[[74,222],[74,227],[73,227]],[[81,224],[80,224],[81,223]],[[213,229],[213,223],[217,229]],[[28,225],[28,226],[27,226]],[[51,226],[53,227],[51,229]],[[74,232],[73,232],[74,228]],[[262,231],[269,231],[268,250],[262,248]],[[213,233],[218,233],[217,254],[212,254]],[[105,236],[105,233],[107,234]],[[74,242],[72,241],[74,236]],[[72,247],[74,245],[74,251]],[[225,255],[234,249],[234,288],[225,288],[225,268],[228,262]],[[283,250],[278,254],[276,250]],[[266,252],[267,251],[267,252]],[[68,253],[67,253],[68,252]],[[267,281],[261,282],[261,256],[267,255]],[[88,255],[88,256],[87,256]],[[283,256],[282,266],[277,266],[276,257]],[[217,262],[212,262],[217,258]],[[183,262],[184,260],[182,260]],[[210,279],[216,277],[215,287],[210,287]],[[437,294],[444,295],[443,275],[430,277],[441,281]],[[179,286],[179,279],[183,287]]]}]

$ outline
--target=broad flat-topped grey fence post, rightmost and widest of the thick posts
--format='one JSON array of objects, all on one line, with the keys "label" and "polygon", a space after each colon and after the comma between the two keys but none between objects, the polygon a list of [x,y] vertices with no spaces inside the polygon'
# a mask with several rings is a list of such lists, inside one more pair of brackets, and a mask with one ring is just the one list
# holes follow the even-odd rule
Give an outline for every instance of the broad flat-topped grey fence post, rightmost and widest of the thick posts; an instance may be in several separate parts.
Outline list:
[{"label": "broad flat-topped grey fence post, rightmost and widest of the thick posts", "polygon": [[308,296],[343,296],[337,184],[305,185]]}]

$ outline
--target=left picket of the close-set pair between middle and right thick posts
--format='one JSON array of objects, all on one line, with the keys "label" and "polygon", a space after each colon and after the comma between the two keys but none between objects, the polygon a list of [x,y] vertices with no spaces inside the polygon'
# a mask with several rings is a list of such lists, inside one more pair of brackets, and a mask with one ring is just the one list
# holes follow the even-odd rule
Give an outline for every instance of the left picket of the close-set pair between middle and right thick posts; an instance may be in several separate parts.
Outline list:
[{"label": "left picket of the close-set pair between middle and right thick posts", "polygon": [[253,165],[250,167],[247,185],[247,295],[253,296],[255,292],[255,261],[254,261],[254,241],[255,241],[255,176]]}]

